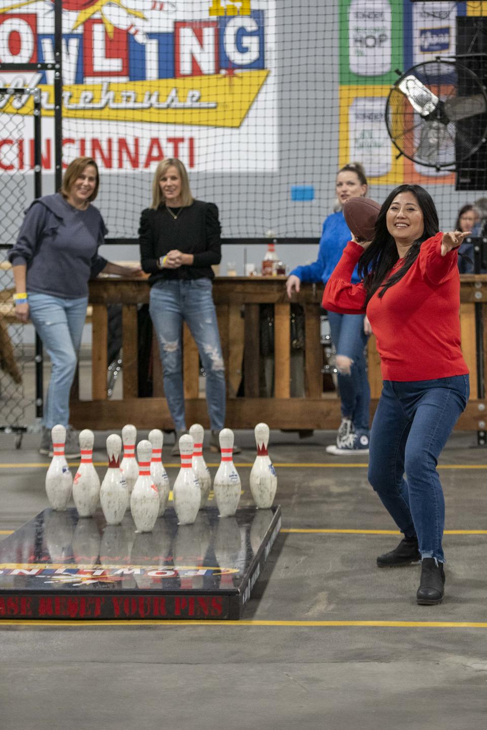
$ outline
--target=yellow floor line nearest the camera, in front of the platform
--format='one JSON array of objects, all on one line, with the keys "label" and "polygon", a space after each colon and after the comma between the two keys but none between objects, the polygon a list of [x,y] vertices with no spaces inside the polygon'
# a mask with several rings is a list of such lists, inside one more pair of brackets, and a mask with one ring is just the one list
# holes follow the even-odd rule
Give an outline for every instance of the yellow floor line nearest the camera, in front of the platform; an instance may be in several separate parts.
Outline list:
[{"label": "yellow floor line nearest the camera, in front of the platform", "polygon": [[122,621],[33,621],[31,619],[0,620],[2,626],[282,626],[310,628],[354,627],[379,629],[487,629],[485,621],[174,621],[164,619]]}]

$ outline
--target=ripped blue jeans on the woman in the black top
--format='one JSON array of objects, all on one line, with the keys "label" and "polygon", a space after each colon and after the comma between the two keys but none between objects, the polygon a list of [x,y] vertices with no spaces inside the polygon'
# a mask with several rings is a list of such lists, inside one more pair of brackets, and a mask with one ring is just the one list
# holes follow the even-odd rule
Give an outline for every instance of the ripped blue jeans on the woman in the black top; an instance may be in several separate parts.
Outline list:
[{"label": "ripped blue jeans on the woman in the black top", "polygon": [[206,372],[206,402],[212,431],[225,423],[225,364],[211,280],[163,280],[150,290],[149,312],[163,365],[164,393],[177,431],[186,430],[182,380],[182,323],[190,328]]}]

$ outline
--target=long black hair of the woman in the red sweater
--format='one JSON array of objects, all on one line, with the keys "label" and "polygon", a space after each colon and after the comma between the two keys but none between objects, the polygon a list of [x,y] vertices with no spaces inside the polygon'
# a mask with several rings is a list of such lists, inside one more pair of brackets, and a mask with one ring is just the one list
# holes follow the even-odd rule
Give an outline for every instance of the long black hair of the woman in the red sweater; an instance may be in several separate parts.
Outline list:
[{"label": "long black hair of the woman in the red sweater", "polygon": [[[418,206],[423,212],[424,230],[421,236],[408,249],[408,253],[404,257],[404,264],[386,280],[387,274],[391,271],[392,266],[399,261],[396,242],[387,230],[386,215],[391,207],[392,201],[400,193],[413,193],[413,196],[418,201]],[[394,188],[389,193],[383,201],[381,212],[379,212],[375,223],[375,234],[372,242],[359,258],[358,272],[359,277],[364,280],[365,291],[367,291],[366,304],[378,288],[381,288],[378,296],[382,297],[386,289],[397,284],[405,276],[411,266],[413,266],[416,258],[418,258],[421,243],[435,236],[438,230],[439,223],[435,203],[433,202],[432,196],[424,188],[421,188],[421,185],[398,185],[397,188]]]}]

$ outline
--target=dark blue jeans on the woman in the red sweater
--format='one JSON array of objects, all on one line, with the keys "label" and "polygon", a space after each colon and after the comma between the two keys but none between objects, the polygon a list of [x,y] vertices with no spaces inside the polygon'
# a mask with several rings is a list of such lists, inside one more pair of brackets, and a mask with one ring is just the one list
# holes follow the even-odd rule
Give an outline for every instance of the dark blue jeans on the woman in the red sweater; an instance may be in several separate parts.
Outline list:
[{"label": "dark blue jeans on the woman in the red sweater", "polygon": [[423,558],[444,563],[445,500],[436,470],[470,395],[468,375],[384,380],[370,434],[369,481]]}]

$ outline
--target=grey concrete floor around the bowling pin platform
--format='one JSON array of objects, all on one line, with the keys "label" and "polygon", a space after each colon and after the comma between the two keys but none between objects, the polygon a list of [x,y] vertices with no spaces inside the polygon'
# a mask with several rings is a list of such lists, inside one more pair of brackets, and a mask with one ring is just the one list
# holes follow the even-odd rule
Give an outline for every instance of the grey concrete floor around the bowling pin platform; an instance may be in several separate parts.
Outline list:
[{"label": "grey concrete floor around the bowling pin platform", "polygon": [[[271,433],[270,456],[278,474],[276,502],[282,505],[284,531],[246,607],[246,623],[74,627],[0,623],[1,727],[473,730],[483,726],[487,534],[445,536],[445,600],[440,606],[424,607],[415,600],[419,566],[375,567],[375,556],[394,547],[400,537],[285,532],[394,529],[367,485],[364,457],[342,462],[328,456],[324,447],[332,436],[318,431],[298,441],[295,434]],[[96,434],[96,461],[106,460],[105,438],[104,433]],[[245,504],[250,502],[252,431],[238,431],[237,439],[245,447],[235,459],[241,464]],[[164,448],[165,463],[175,464],[169,450],[169,445]],[[214,464],[214,457],[206,456]],[[440,461],[447,530],[487,529],[486,456],[486,450],[475,447],[475,434],[456,433],[448,442]],[[47,464],[48,459],[36,452],[33,434],[24,438],[19,451],[12,436],[0,435],[0,530],[15,529],[46,506]],[[176,469],[168,472],[172,482]],[[268,621],[282,623],[263,623]],[[293,621],[305,625],[294,626]],[[341,625],[322,623],[327,621]],[[351,621],[362,625],[346,625]],[[365,621],[391,623],[367,626]],[[486,626],[465,625],[479,622]]]}]

